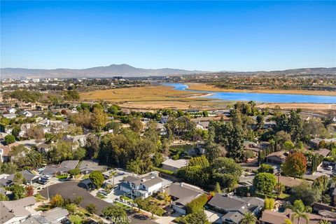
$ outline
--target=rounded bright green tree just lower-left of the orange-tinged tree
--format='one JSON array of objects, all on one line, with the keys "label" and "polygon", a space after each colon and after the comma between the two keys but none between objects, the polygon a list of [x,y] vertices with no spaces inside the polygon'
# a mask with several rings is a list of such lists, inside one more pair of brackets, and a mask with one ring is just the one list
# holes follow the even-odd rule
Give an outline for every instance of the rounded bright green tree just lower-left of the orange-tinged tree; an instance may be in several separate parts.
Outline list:
[{"label": "rounded bright green tree just lower-left of the orange-tinged tree", "polygon": [[253,179],[253,186],[260,193],[270,194],[275,189],[276,178],[273,174],[259,173]]}]

